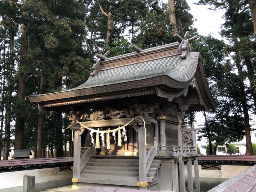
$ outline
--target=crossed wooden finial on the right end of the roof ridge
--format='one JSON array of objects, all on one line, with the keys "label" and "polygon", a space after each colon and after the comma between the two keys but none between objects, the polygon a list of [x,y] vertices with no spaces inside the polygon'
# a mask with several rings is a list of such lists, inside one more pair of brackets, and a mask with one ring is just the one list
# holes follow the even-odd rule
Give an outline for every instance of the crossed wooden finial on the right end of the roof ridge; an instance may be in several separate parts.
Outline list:
[{"label": "crossed wooden finial on the right end of the roof ridge", "polygon": [[186,33],[184,34],[180,19],[178,19],[178,24],[180,26],[180,34],[182,36],[180,36],[177,33],[174,33],[173,36],[180,42],[180,46],[178,49],[178,50],[182,50],[182,54],[180,55],[180,58],[186,59],[187,51],[192,51],[190,42],[195,40],[198,37],[198,35],[195,35],[194,37],[187,39],[189,32],[186,31]]}]

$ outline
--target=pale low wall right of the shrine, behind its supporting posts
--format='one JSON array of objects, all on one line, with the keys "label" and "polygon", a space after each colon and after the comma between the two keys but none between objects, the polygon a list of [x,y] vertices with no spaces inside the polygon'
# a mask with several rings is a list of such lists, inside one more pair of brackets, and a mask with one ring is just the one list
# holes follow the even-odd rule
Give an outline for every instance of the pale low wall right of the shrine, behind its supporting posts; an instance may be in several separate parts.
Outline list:
[{"label": "pale low wall right of the shrine, behind its supporting posts", "polygon": [[[220,183],[244,172],[252,166],[243,166],[243,165],[221,165],[221,170],[210,170],[202,169],[202,166],[199,165],[199,178],[200,178],[200,190],[206,192]],[[184,166],[185,177],[187,178],[187,165]],[[194,165],[192,167],[193,177],[194,177]],[[187,185],[187,183],[186,183]]]}]

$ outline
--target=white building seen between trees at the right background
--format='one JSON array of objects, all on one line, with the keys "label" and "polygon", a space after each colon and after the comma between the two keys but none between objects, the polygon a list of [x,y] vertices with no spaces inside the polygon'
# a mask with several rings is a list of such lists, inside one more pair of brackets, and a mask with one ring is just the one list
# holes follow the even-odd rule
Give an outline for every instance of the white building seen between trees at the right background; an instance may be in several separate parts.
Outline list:
[{"label": "white building seen between trees at the right background", "polygon": [[[252,131],[252,132],[250,132],[250,134],[251,134],[252,143],[256,143],[256,131]],[[202,138],[201,141],[197,141],[197,145],[200,148],[201,154],[206,155],[206,145],[208,145],[208,144],[209,143],[206,138]],[[244,155],[245,154],[245,152],[246,152],[245,136],[244,136],[243,140],[241,140],[240,142],[234,142],[232,144],[236,146],[236,155]],[[216,155],[228,155],[226,146],[218,146]]]}]

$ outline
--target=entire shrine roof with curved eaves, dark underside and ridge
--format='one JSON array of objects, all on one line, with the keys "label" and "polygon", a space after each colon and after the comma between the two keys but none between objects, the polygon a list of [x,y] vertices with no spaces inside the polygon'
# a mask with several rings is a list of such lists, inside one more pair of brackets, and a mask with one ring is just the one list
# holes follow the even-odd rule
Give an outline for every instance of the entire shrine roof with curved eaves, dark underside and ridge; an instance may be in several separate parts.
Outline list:
[{"label": "entire shrine roof with curved eaves, dark underside and ridge", "polygon": [[182,39],[155,48],[108,58],[98,52],[93,72],[88,80],[73,89],[28,96],[44,110],[113,100],[134,96],[151,96],[156,99],[179,97],[179,102],[190,111],[210,110],[216,103],[210,93],[202,56],[192,52],[190,41]]}]

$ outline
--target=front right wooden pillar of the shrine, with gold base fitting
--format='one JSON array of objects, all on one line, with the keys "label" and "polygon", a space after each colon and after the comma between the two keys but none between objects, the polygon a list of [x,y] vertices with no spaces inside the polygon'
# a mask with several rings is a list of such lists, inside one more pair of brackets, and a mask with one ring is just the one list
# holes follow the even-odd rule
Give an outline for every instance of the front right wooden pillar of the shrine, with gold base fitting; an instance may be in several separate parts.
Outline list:
[{"label": "front right wooden pillar of the shrine, with gold base fitting", "polygon": [[[139,138],[139,179],[140,183],[147,183],[147,162],[146,162],[146,146],[144,126],[138,127]],[[140,187],[140,189],[147,189],[147,187]]]}]

